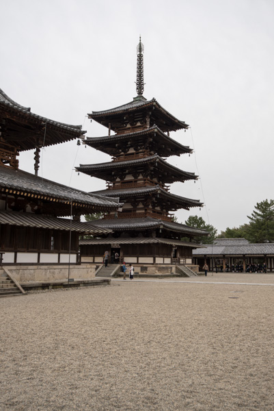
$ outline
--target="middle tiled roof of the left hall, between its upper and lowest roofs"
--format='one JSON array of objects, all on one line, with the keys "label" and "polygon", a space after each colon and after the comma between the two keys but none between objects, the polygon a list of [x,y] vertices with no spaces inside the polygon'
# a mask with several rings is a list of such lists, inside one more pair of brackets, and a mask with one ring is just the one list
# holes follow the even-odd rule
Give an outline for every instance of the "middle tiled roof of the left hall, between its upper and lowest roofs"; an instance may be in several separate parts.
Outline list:
[{"label": "middle tiled roof of the left hall, between its upper and lowest roofs", "polygon": [[88,192],[77,190],[38,177],[27,171],[14,170],[8,166],[0,166],[0,190],[19,197],[29,199],[39,198],[55,202],[70,203],[86,206],[90,210],[117,210],[118,199],[105,198],[100,195],[90,195]]}]

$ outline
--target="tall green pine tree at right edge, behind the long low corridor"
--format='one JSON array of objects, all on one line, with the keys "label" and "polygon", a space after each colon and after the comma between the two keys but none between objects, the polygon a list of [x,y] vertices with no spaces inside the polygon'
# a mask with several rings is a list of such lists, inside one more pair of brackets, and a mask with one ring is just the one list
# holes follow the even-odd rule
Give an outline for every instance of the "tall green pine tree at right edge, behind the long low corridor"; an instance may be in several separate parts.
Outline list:
[{"label": "tall green pine tree at right edge, behind the long low corridor", "polygon": [[257,203],[249,219],[248,240],[251,242],[274,242],[274,200]]}]

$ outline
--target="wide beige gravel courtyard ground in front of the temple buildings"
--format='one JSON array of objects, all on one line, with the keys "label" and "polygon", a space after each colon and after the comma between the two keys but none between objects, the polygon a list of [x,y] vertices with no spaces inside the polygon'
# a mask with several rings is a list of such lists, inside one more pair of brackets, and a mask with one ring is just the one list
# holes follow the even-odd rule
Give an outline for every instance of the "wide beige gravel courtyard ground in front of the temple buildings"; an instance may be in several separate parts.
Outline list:
[{"label": "wide beige gravel courtyard ground in front of the temple buildings", "polygon": [[[236,278],[236,280],[235,280]],[[274,410],[274,275],[0,300],[0,410]]]}]

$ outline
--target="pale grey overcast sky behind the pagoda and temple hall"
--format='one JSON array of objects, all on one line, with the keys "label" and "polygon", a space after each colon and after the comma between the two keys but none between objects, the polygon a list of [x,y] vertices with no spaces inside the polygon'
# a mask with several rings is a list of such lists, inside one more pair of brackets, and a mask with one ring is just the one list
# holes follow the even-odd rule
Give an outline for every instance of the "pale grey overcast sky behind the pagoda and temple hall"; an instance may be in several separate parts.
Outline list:
[{"label": "pale grey overcast sky behind the pagoda and temple hall", "polygon": [[[247,223],[257,202],[274,199],[273,0],[0,0],[0,88],[31,111],[107,129],[86,114],[136,96],[136,47],[144,52],[143,93],[191,126],[171,137],[194,147],[168,161],[200,179],[171,191],[205,206],[218,231]],[[39,175],[85,191],[105,182],[73,171],[109,161],[76,141],[43,150]],[[33,173],[33,151],[20,169]]]}]

